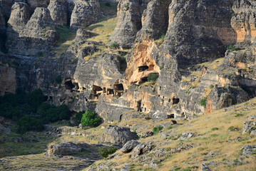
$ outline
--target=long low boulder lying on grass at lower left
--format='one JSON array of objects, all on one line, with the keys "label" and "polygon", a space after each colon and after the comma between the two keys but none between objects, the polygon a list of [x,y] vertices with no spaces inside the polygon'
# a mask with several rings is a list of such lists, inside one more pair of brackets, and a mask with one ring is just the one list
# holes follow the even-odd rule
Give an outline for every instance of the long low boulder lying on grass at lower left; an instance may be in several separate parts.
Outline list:
[{"label": "long low boulder lying on grass at lower left", "polygon": [[55,145],[48,145],[49,155],[71,155],[75,152],[81,152],[82,147],[73,142],[58,143]]}]

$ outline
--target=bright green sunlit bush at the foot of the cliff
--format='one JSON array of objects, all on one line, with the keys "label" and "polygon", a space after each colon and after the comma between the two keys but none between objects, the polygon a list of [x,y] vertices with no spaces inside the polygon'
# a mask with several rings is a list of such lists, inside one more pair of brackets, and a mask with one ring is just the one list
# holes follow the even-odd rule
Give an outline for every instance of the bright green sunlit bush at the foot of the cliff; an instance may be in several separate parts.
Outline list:
[{"label": "bright green sunlit bush at the foot of the cliff", "polygon": [[101,118],[99,118],[96,113],[86,110],[86,113],[83,113],[81,119],[81,124],[83,126],[93,126],[96,127],[101,124]]}]

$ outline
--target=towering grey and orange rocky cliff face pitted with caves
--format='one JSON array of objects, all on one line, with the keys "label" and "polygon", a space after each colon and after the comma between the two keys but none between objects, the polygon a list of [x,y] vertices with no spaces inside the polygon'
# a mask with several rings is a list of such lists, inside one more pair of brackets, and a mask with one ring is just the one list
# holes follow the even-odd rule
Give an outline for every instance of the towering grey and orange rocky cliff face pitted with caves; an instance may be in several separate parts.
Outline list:
[{"label": "towering grey and orange rocky cliff face pitted with caves", "polygon": [[[67,11],[73,10],[71,28],[83,28],[101,18],[101,6],[93,0],[49,3],[32,16],[29,4],[14,4],[6,44],[9,60],[28,66],[17,68],[17,85],[41,88],[57,105],[90,108],[104,120],[138,113],[193,118],[256,95],[255,1],[123,0],[107,35],[112,49],[78,29],[59,58],[49,49],[56,26],[69,22]],[[132,49],[126,56],[122,48]],[[158,79],[148,81],[153,75]],[[58,76],[61,83],[54,82]]]}]

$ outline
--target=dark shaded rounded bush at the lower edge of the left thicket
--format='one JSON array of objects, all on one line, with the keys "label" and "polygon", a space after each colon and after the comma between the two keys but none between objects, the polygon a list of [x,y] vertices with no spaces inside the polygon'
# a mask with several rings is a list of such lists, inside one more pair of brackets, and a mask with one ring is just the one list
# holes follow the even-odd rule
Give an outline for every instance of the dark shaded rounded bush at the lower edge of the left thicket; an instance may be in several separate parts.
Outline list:
[{"label": "dark shaded rounded bush at the lower edge of the left thicket", "polygon": [[33,118],[29,115],[25,115],[19,119],[18,123],[18,133],[26,133],[29,130],[41,131],[43,130],[43,122],[40,119]]}]

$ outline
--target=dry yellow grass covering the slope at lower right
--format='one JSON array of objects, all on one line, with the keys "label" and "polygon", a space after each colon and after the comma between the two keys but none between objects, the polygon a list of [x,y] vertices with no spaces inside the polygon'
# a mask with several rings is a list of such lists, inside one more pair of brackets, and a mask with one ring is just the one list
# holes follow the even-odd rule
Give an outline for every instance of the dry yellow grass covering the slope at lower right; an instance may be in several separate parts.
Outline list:
[{"label": "dry yellow grass covering the slope at lower right", "polygon": [[[155,170],[163,170],[169,171],[172,169],[173,165],[177,165],[181,167],[180,170],[183,170],[187,167],[197,166],[199,169],[203,162],[216,162],[216,165],[212,170],[256,170],[255,160],[256,156],[252,155],[249,158],[246,158],[242,165],[225,165],[225,162],[232,163],[232,161],[236,160],[240,153],[240,147],[245,145],[253,145],[256,143],[256,138],[252,137],[251,139],[247,139],[248,134],[242,135],[242,126],[244,121],[248,120],[247,118],[250,115],[255,115],[256,113],[256,98],[250,100],[247,103],[240,104],[238,108],[234,108],[233,110],[224,112],[223,110],[216,110],[214,113],[208,115],[202,115],[193,120],[178,121],[179,124],[175,125],[172,130],[175,130],[175,135],[180,135],[182,133],[194,133],[195,137],[190,138],[188,140],[164,140],[161,138],[161,133],[158,135],[154,135],[150,138],[140,139],[140,142],[149,142],[154,141],[158,142],[171,142],[169,145],[160,146],[158,148],[173,148],[180,146],[182,142],[183,145],[194,145],[190,150],[185,150],[183,152],[170,155],[164,158],[155,158],[155,160],[163,160],[161,162],[160,167],[155,168]],[[245,105],[245,106],[244,106]],[[245,111],[244,108],[248,107],[249,110]],[[145,123],[144,123],[145,122]],[[164,120],[161,123],[170,122],[170,120]],[[148,129],[153,128],[152,121],[133,119],[128,120],[124,123],[120,123],[119,125],[132,125],[131,128],[135,124],[148,125]],[[239,131],[228,131],[230,127],[238,128]],[[168,131],[165,129],[163,133]],[[240,140],[229,141],[233,138],[240,137]],[[209,152],[215,152],[213,157],[207,155]],[[118,160],[111,160],[111,163],[119,163],[118,167],[113,168],[121,168],[123,165],[130,165],[130,170],[145,170],[142,164],[131,164],[131,159],[128,157],[129,155],[122,154],[118,151],[121,156]],[[96,162],[96,165],[101,162],[108,162],[108,160],[100,160]],[[245,162],[249,162],[245,164]],[[129,164],[130,163],[130,164]],[[193,169],[195,170],[195,169]]]}]

